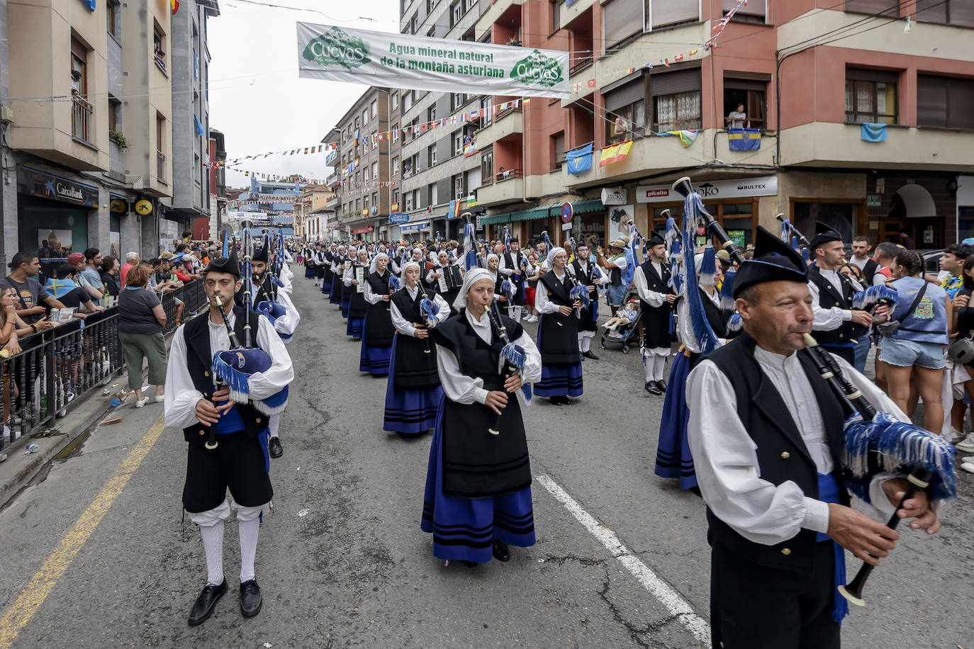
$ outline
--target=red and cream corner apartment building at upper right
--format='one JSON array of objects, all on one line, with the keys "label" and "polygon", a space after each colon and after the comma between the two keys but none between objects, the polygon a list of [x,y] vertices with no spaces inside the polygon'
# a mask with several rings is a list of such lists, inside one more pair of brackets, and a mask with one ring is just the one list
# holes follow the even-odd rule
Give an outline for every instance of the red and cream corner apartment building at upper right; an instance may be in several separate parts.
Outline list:
[{"label": "red and cream corner apartment building at upper right", "polygon": [[[558,233],[560,206],[572,202],[576,238],[611,238],[622,214],[659,230],[663,211],[682,205],[669,183],[690,175],[739,243],[758,224],[774,228],[779,212],[806,232],[825,221],[846,240],[905,231],[937,248],[974,234],[974,4],[750,0],[705,50],[736,4],[479,3],[476,40],[568,50],[572,64],[568,99],[522,104],[477,134],[481,165],[493,168],[476,192],[482,223]],[[424,33],[416,7],[403,24]],[[739,104],[738,126],[761,134],[760,149],[731,148]],[[619,117],[632,149],[600,166]],[[869,141],[863,123],[886,125],[883,139]],[[680,130],[695,131],[692,144],[657,135]],[[588,145],[591,169],[569,174],[566,153]]]}]

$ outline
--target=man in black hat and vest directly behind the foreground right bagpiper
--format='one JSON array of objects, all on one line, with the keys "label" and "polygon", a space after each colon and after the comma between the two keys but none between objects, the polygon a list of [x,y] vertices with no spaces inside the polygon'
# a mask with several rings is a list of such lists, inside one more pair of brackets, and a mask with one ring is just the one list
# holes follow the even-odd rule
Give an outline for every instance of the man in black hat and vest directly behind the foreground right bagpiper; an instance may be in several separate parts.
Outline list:
[{"label": "man in black hat and vest directly behind the foreground right bagpiper", "polygon": [[[815,256],[815,263],[808,267],[808,290],[815,314],[812,331],[819,344],[853,363],[857,330],[862,332],[856,325],[871,326],[873,314],[852,308],[856,291],[848,276],[839,272],[845,261],[843,237],[819,221],[810,247]],[[868,330],[862,335],[868,336]]]}]

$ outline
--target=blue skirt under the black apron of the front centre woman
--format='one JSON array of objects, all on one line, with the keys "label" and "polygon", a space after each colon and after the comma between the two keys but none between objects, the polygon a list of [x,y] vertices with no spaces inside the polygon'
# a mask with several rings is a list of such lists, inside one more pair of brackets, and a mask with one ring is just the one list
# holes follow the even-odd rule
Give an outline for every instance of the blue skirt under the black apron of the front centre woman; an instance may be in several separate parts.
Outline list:
[{"label": "blue skirt under the black apron of the front centre woman", "polygon": [[442,414],[440,408],[420,521],[420,528],[432,534],[432,554],[439,559],[486,563],[494,556],[494,539],[520,548],[533,546],[535,512],[531,487],[491,498],[458,498],[443,493]]}]

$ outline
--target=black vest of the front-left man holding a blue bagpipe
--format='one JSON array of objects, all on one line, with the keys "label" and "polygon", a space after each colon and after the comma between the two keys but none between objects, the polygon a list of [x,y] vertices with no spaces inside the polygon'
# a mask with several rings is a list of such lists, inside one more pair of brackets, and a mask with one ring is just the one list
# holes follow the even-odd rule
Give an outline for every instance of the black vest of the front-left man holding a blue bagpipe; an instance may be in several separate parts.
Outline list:
[{"label": "black vest of the front-left man holding a blue bagpipe", "polygon": [[[237,321],[234,323],[234,332],[237,340],[244,342],[244,308],[234,306],[234,316]],[[252,338],[257,340],[258,318],[262,317],[259,313],[250,312],[250,330],[253,332]],[[183,325],[183,336],[186,340],[186,367],[189,369],[190,379],[193,380],[195,387],[204,398],[209,399],[213,393],[212,363],[214,351],[209,348],[209,313],[204,312],[200,317],[193,318]],[[256,437],[260,432],[267,428],[267,415],[258,412],[249,404],[237,404],[237,412],[240,413],[244,421],[244,429],[250,437]],[[208,437],[209,426],[196,423],[188,428],[183,428],[183,437],[190,444],[202,446]]]}]

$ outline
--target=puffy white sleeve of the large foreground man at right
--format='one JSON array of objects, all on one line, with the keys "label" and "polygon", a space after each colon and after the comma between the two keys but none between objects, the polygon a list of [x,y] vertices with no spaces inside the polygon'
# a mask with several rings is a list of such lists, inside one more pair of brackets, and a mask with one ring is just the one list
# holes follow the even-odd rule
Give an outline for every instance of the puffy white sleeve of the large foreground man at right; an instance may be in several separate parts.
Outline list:
[{"label": "puffy white sleeve of the large foreground man at right", "polygon": [[712,361],[687,379],[688,438],[697,485],[714,515],[754,543],[787,541],[805,527],[825,532],[827,503],[805,496],[793,481],[772,485],[758,470],[758,453],[737,415],[731,381]]}]

